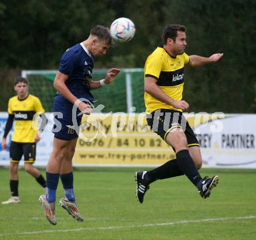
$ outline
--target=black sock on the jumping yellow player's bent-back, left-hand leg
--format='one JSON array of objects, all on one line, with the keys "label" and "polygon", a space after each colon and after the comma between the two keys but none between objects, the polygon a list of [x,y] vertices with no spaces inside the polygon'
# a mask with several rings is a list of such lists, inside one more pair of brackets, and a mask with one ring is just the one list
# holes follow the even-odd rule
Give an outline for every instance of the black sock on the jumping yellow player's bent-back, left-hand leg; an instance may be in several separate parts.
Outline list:
[{"label": "black sock on the jumping yellow player's bent-back, left-hand leg", "polygon": [[180,169],[177,159],[172,159],[158,168],[152,169],[145,174],[148,176],[150,183],[158,179],[169,179],[170,177],[177,177],[184,175]]}]

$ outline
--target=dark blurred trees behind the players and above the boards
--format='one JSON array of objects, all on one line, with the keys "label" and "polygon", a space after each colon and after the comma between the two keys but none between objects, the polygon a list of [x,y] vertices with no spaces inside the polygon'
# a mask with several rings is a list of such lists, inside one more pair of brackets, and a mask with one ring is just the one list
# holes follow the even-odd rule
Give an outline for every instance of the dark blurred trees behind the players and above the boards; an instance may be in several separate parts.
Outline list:
[{"label": "dark blurred trees behind the players and above the boards", "polygon": [[[190,111],[256,112],[256,2],[252,0],[1,0],[0,111],[6,111],[9,97],[15,94],[13,79],[22,70],[57,70],[62,53],[86,39],[91,27],[109,27],[119,17],[130,18],[136,34],[95,59],[95,68],[143,68],[147,56],[162,45],[163,27],[183,24],[187,54],[224,53],[218,63],[186,69],[184,99]],[[140,83],[138,110],[144,111],[143,73],[133,81]]]}]

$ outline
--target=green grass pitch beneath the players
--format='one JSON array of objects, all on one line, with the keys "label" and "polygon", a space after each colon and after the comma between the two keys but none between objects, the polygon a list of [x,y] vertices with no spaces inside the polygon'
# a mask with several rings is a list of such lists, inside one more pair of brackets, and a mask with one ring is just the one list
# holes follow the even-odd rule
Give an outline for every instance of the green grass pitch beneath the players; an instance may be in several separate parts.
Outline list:
[{"label": "green grass pitch beneath the players", "polygon": [[[57,225],[52,226],[37,201],[44,190],[20,169],[21,202],[0,204],[0,239],[256,239],[256,170],[201,170],[202,176],[220,178],[207,199],[184,176],[160,180],[151,184],[143,204],[135,197],[136,170],[75,169],[75,194],[84,221],[77,223],[56,206]],[[0,175],[2,202],[10,195],[8,169],[0,169]],[[57,199],[61,197],[59,182]]]}]

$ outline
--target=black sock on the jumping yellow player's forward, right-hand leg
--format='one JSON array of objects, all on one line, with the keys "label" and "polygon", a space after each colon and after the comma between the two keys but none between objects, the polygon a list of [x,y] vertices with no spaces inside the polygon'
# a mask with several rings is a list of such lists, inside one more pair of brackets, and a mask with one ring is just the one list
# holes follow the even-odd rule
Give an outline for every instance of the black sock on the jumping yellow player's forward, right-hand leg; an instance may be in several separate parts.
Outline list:
[{"label": "black sock on the jumping yellow player's forward, right-hand leg", "polygon": [[189,150],[180,150],[176,152],[177,164],[184,172],[187,178],[198,188],[198,183],[202,180],[195,163],[189,154]]}]

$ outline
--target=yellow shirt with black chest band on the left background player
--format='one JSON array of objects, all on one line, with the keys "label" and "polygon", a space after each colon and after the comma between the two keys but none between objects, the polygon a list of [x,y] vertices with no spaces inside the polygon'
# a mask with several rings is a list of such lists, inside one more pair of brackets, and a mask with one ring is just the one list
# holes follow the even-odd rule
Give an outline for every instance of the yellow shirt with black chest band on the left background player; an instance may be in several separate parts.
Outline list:
[{"label": "yellow shirt with black chest band on the left background player", "polygon": [[31,94],[23,100],[19,100],[18,96],[11,97],[8,103],[8,113],[15,117],[12,141],[34,143],[37,134],[35,129],[37,129],[38,115],[34,122],[33,117],[35,113],[42,114],[43,112],[45,111],[38,97]]}]

